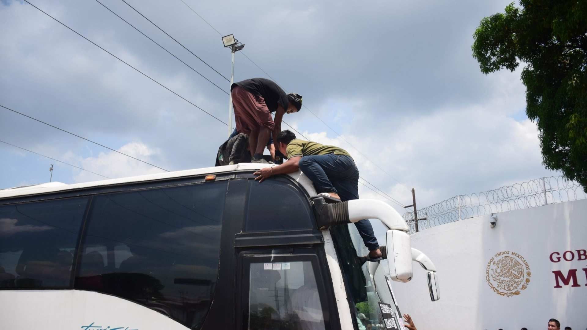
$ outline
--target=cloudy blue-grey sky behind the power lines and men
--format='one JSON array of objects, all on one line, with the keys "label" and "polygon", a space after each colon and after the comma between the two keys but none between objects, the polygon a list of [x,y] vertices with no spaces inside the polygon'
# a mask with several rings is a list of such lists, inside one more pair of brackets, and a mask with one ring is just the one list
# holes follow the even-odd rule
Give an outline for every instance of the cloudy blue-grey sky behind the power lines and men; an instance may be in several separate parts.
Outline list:
[{"label": "cloudy blue-grey sky behind the power lines and men", "polygon": [[[96,0],[30,1],[227,122],[225,92]],[[308,139],[347,149],[361,176],[400,203],[411,204],[412,187],[427,206],[557,175],[541,164],[519,72],[485,76],[471,56],[479,21],[511,0],[184,0],[218,32],[181,0],[126,1],[229,79],[230,51],[219,33],[234,33],[246,45],[236,56],[235,80],[267,77],[257,63],[284,89],[303,95],[307,108],[285,121]],[[225,78],[123,1],[100,2],[229,89]],[[167,170],[214,165],[225,124],[26,2],[0,0],[0,31],[0,105]],[[0,140],[112,178],[161,171],[4,108]],[[50,163],[0,143],[0,188],[49,181]],[[54,181],[103,179],[53,163]],[[384,199],[359,187],[362,197]]]}]

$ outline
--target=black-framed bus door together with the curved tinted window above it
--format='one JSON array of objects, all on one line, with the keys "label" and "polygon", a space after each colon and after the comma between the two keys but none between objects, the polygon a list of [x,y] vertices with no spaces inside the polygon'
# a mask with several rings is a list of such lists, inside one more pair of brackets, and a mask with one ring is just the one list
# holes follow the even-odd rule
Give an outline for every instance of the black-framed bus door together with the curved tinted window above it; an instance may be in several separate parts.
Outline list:
[{"label": "black-framed bus door together with the curved tinted window above it", "polygon": [[246,196],[234,239],[236,328],[340,329],[309,196],[284,176],[249,180]]}]

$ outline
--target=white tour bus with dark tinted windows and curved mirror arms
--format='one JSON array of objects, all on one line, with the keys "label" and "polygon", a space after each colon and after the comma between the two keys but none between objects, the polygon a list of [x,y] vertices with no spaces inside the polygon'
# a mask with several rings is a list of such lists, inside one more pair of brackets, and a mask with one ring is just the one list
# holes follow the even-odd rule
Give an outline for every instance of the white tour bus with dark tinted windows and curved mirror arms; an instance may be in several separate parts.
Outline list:
[{"label": "white tour bus with dark tinted windows and curved mirror arms", "polygon": [[[438,299],[392,207],[326,204],[300,172],[258,183],[261,167],[0,190],[0,328],[403,329],[391,281],[412,260]],[[363,218],[389,228],[386,285],[360,258]]]}]

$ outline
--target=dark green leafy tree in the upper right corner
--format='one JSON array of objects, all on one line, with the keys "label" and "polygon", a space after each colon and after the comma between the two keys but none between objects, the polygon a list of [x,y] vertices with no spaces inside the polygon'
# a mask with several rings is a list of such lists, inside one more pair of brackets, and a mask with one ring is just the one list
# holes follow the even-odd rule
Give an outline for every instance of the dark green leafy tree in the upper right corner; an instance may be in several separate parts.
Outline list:
[{"label": "dark green leafy tree in the upper right corner", "polygon": [[521,0],[481,20],[473,56],[481,72],[515,70],[537,123],[543,163],[587,192],[587,0]]}]

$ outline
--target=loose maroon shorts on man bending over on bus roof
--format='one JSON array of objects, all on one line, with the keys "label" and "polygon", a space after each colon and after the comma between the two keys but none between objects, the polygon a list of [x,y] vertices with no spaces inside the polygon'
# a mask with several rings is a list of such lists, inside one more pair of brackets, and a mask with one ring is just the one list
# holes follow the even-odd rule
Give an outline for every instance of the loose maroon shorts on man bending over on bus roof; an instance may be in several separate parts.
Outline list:
[{"label": "loose maroon shorts on man bending over on bus roof", "polygon": [[238,133],[249,135],[252,130],[259,130],[261,127],[273,131],[275,123],[263,97],[254,95],[239,86],[235,86],[230,95]]}]

